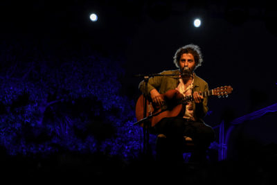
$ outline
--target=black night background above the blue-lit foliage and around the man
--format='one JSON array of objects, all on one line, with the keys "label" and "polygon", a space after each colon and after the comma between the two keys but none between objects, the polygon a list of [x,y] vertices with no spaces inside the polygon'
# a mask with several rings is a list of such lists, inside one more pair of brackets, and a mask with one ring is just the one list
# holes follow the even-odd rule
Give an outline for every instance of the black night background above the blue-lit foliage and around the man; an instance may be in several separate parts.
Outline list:
[{"label": "black night background above the blue-lit foliage and around the man", "polygon": [[[30,42],[60,58],[88,53],[119,58],[125,69],[120,94],[131,100],[140,96],[138,85],[143,80],[134,75],[175,69],[175,51],[193,43],[204,55],[197,75],[210,89],[233,87],[228,98],[210,98],[206,123],[229,123],[276,103],[273,1],[39,0],[0,5],[1,42]],[[90,21],[92,12],[98,21]],[[193,26],[195,18],[202,20],[199,28]],[[238,148],[252,140],[253,146],[276,143],[276,127],[272,113],[237,127],[233,141],[241,144]]]}]

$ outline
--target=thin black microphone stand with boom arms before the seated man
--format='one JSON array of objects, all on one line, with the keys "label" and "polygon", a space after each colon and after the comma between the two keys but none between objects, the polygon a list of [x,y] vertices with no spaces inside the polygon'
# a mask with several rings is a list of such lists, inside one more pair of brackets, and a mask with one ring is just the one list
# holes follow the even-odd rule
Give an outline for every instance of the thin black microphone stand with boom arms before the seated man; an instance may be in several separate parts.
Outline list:
[{"label": "thin black microphone stand with boom arms before the seated man", "polygon": [[149,138],[150,138],[150,127],[151,127],[151,123],[150,123],[150,118],[152,118],[153,116],[157,116],[158,114],[160,114],[161,112],[158,112],[156,114],[152,114],[148,117],[146,117],[146,113],[147,113],[147,94],[148,94],[148,81],[149,78],[154,77],[154,76],[179,76],[180,74],[168,74],[168,75],[162,75],[162,74],[149,74],[149,75],[135,75],[136,77],[142,77],[144,79],[144,93],[143,93],[143,119],[137,121],[136,123],[134,123],[133,125],[138,125],[139,123],[143,122],[143,154],[146,157],[151,157],[151,150],[149,150],[150,148],[150,143],[149,143]]}]

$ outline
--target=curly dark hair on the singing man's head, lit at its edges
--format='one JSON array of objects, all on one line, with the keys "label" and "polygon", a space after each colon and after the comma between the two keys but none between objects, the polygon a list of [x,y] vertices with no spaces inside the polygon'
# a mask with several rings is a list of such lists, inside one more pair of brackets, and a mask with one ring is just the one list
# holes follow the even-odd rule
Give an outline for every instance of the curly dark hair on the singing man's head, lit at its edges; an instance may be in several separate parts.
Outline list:
[{"label": "curly dark hair on the singing man's head, lit at its edges", "polygon": [[177,51],[174,55],[173,62],[177,68],[180,68],[179,60],[181,58],[181,55],[183,55],[184,53],[190,53],[193,55],[193,57],[195,58],[195,69],[197,69],[197,67],[202,65],[203,55],[202,55],[202,52],[201,52],[199,46],[197,46],[195,44],[188,44],[186,46],[182,46],[181,48],[177,49]]}]

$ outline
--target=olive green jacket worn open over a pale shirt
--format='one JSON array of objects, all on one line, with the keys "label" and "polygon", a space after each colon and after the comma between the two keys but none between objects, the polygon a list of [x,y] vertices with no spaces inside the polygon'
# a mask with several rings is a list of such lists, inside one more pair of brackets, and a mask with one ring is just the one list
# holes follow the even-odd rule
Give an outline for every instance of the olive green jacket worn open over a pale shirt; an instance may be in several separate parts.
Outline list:
[{"label": "olive green jacket worn open over a pale shirt", "polygon": [[[159,73],[161,75],[176,75],[176,76],[154,76],[152,78],[149,78],[148,80],[148,92],[147,96],[150,96],[150,91],[152,89],[157,89],[160,94],[165,94],[166,91],[170,89],[176,89],[176,87],[179,85],[179,70],[170,70],[170,71],[163,71]],[[193,92],[194,91],[208,91],[208,83],[205,82],[202,78],[199,78],[198,76],[193,73]],[[139,83],[139,89],[143,94],[144,93],[144,80]],[[193,101],[193,110],[194,110],[194,117],[199,118],[201,121],[204,116],[206,116],[206,113],[208,112],[208,98],[204,98],[203,103],[195,104]]]}]

